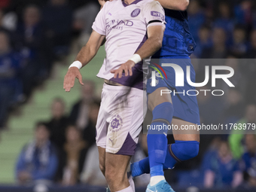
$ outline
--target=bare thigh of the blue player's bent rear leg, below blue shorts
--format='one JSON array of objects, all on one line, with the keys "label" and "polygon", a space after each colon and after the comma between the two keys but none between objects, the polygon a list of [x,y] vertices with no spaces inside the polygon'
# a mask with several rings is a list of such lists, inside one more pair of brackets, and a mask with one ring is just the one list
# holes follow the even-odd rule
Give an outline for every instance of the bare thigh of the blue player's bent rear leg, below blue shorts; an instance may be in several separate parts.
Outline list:
[{"label": "bare thigh of the blue player's bent rear leg, below blue shorts", "polygon": [[197,131],[197,124],[173,118],[172,125],[173,127],[178,127],[177,130],[172,130],[173,137],[175,140],[200,142],[200,132]]}]

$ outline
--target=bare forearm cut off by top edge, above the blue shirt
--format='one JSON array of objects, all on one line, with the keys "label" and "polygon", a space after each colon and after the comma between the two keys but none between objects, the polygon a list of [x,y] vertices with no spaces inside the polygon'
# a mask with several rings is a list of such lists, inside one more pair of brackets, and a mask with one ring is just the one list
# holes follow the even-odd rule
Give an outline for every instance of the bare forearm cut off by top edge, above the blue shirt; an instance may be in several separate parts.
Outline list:
[{"label": "bare forearm cut off by top edge, above the blue shirt", "polygon": [[157,0],[163,8],[176,11],[185,11],[189,5],[189,0]]}]

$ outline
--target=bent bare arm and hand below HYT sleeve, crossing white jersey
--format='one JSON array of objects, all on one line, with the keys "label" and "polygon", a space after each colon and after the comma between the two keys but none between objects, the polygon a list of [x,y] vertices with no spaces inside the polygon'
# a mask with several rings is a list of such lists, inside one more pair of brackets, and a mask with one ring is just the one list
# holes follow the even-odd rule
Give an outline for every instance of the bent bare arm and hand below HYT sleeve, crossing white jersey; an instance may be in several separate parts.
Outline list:
[{"label": "bent bare arm and hand below HYT sleeve, crossing white jersey", "polygon": [[[164,26],[148,26],[148,39],[136,52],[136,55],[139,55],[141,59],[146,59],[149,56],[154,55],[154,53],[162,47],[164,29]],[[123,63],[119,69],[111,70],[111,73],[114,73],[114,78],[117,78],[117,76],[121,78],[123,72],[125,73],[125,76],[132,76],[132,69],[135,64],[136,62],[130,59]]]}]

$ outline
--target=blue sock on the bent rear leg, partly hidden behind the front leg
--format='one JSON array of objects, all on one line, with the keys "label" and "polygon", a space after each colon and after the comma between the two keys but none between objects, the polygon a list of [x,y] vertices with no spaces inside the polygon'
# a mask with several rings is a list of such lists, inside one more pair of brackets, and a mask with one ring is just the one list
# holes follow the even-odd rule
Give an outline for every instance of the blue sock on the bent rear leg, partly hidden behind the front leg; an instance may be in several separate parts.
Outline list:
[{"label": "blue sock on the bent rear leg, partly hidden behind the front leg", "polygon": [[[172,144],[172,151],[169,150],[170,145],[168,145],[163,169],[172,169],[178,161],[190,160],[191,158],[197,157],[199,144],[200,143],[196,141],[175,141],[175,143]],[[150,173],[149,157],[133,163],[131,170],[133,177]]]}]

